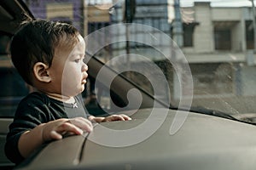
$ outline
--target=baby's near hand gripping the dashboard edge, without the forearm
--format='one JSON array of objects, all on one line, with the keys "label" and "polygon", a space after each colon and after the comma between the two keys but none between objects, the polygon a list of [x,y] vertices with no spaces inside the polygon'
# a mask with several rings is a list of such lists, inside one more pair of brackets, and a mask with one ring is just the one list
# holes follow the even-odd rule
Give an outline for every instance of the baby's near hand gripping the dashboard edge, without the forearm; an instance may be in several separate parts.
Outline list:
[{"label": "baby's near hand gripping the dashboard edge, without the forearm", "polygon": [[45,123],[43,125],[42,138],[44,141],[62,139],[62,135],[66,133],[83,134],[83,131],[90,133],[92,129],[91,122],[84,117],[62,118]]}]

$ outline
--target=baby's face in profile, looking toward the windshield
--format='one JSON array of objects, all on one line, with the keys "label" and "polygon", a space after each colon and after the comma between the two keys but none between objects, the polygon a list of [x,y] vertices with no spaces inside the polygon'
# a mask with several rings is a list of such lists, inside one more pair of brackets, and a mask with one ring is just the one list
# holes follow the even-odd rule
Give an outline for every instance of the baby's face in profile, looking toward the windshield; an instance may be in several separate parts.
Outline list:
[{"label": "baby's face in profile, looking toward the windshield", "polygon": [[58,94],[75,96],[84,91],[88,77],[88,66],[84,64],[85,42],[79,35],[79,42],[73,49],[56,48],[51,65],[52,83]]}]

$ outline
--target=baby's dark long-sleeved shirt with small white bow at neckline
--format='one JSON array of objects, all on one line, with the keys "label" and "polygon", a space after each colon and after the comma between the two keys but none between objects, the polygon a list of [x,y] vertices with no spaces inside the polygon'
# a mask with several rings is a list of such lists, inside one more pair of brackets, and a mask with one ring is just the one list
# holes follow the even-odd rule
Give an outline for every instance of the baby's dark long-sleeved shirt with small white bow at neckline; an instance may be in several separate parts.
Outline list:
[{"label": "baby's dark long-sleeved shirt with small white bow at neckline", "polygon": [[5,154],[9,160],[15,163],[24,160],[18,149],[18,141],[20,135],[27,130],[31,130],[41,123],[60,118],[89,116],[84,108],[83,100],[79,96],[76,96],[75,100],[74,104],[67,104],[38,92],[28,94],[26,98],[22,99],[7,134]]}]

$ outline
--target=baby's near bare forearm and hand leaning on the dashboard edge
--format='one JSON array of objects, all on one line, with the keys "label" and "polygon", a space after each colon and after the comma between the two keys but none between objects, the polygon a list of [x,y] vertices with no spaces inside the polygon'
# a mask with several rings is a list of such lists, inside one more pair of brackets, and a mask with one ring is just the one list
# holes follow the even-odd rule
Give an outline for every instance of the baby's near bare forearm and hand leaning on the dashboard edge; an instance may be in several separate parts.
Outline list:
[{"label": "baby's near bare forearm and hand leaning on the dashboard edge", "polygon": [[40,124],[38,127],[23,133],[20,136],[18,148],[21,156],[26,158],[44,142],[52,139],[62,139],[62,134],[83,134],[83,131],[91,132],[92,129],[91,122],[83,117],[58,119]]}]

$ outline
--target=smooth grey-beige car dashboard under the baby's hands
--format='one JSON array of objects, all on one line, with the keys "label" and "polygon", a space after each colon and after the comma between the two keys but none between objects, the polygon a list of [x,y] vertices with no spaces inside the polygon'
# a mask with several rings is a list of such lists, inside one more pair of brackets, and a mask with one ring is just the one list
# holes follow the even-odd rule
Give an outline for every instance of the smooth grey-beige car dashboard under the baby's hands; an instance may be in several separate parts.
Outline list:
[{"label": "smooth grey-beige car dashboard under the baby's hands", "polygon": [[[166,110],[157,109],[159,114]],[[151,127],[138,128],[151,111],[142,109],[131,121],[96,124],[90,134],[51,142],[17,169],[255,169],[256,127],[217,116],[190,112],[183,126],[171,135],[176,111],[167,110],[160,127],[136,144],[125,145],[120,136],[111,136],[112,131],[132,130],[127,139],[139,139],[150,131]],[[150,118],[160,122],[159,117]],[[102,127],[110,129],[109,133],[102,133]],[[106,139],[115,141],[116,146],[101,144]]]}]

